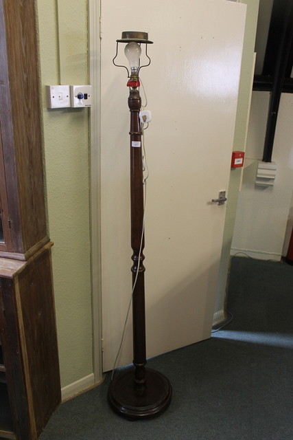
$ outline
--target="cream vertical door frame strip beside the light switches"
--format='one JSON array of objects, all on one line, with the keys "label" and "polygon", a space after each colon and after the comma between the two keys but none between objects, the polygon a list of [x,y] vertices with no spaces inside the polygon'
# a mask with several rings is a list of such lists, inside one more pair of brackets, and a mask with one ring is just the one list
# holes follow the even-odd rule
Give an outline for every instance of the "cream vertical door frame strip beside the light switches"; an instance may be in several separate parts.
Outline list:
[{"label": "cream vertical door frame strip beside the light switches", "polygon": [[89,112],[90,144],[90,219],[91,219],[91,288],[93,307],[93,373],[95,382],[103,377],[102,359],[102,284],[101,284],[101,210],[100,210],[100,133],[101,133],[101,0],[88,0],[89,83],[93,101]]}]

